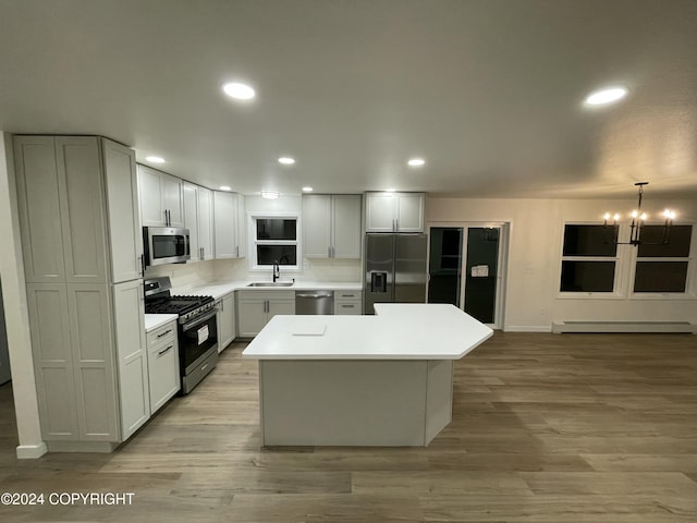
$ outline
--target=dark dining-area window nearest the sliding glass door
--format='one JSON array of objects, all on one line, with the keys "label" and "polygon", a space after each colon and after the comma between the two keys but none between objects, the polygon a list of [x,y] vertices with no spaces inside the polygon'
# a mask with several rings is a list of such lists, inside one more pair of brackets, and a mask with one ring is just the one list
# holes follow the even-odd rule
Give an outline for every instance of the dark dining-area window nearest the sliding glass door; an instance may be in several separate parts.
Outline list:
[{"label": "dark dining-area window nearest the sliding glass door", "polygon": [[614,292],[616,230],[603,226],[564,226],[561,292]]}]

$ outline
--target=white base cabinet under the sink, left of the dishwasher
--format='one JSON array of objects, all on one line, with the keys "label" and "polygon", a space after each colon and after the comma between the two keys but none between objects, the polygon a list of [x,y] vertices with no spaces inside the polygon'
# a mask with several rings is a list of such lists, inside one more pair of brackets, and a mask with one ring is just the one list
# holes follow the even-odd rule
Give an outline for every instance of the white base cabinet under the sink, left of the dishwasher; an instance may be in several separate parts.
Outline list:
[{"label": "white base cabinet under the sink, left of the dishwasher", "polygon": [[257,336],[277,314],[295,314],[294,291],[237,291],[239,336]]}]

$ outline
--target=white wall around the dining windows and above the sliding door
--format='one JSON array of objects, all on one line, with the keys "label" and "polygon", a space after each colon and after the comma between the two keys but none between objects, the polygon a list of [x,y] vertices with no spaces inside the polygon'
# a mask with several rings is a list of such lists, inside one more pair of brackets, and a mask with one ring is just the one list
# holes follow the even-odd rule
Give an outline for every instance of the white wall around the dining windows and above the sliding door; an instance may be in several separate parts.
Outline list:
[{"label": "white wall around the dining windows and above the sliding door", "polygon": [[[656,202],[660,209],[652,209]],[[468,199],[432,198],[426,207],[429,223],[502,221],[510,223],[504,330],[551,329],[555,320],[674,320],[695,321],[697,275],[687,300],[561,299],[559,281],[565,222],[602,222],[606,211],[632,209],[636,200],[588,199]],[[670,207],[678,220],[697,222],[697,203],[664,200],[646,195],[651,212]],[[635,248],[621,246],[620,248]],[[697,252],[697,246],[693,246]],[[693,264],[693,272],[695,271]]]}]

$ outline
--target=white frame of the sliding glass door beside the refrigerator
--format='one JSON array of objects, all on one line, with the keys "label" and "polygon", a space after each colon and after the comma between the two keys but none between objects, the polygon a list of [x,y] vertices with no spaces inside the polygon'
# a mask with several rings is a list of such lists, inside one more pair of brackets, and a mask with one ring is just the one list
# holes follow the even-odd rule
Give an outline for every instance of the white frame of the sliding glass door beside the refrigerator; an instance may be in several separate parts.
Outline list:
[{"label": "white frame of the sliding glass door beside the refrigerator", "polygon": [[[497,264],[497,295],[496,295],[496,306],[493,313],[493,324],[486,324],[488,327],[492,329],[503,330],[505,325],[504,314],[505,314],[505,289],[508,285],[508,273],[509,273],[509,239],[511,231],[511,223],[508,221],[433,221],[426,223],[426,234],[428,235],[428,251],[427,251],[427,259],[430,260],[430,236],[431,236],[431,228],[462,228],[462,278],[460,282],[460,308],[464,311],[465,307],[465,284],[466,284],[466,275],[465,268],[467,264],[467,234],[469,228],[498,228],[499,229],[499,258]],[[428,296],[428,284],[430,283],[430,267],[427,267],[427,281],[426,281],[426,295]]]}]

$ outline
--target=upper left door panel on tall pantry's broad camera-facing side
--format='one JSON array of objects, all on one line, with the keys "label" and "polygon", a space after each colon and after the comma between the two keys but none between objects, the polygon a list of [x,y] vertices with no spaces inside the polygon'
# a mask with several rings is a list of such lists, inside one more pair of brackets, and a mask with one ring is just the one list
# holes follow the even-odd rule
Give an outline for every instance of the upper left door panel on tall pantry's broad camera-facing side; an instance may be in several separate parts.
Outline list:
[{"label": "upper left door panel on tall pantry's broad camera-facing side", "polygon": [[15,136],[14,163],[26,281],[64,282],[54,138]]}]

